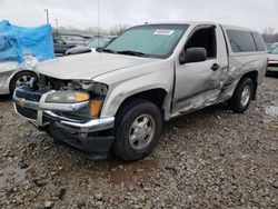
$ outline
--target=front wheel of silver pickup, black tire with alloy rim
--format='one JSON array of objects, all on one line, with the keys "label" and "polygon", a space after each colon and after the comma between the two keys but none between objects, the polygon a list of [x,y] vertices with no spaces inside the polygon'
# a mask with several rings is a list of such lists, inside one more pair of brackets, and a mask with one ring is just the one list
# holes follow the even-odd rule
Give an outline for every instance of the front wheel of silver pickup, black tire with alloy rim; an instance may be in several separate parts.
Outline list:
[{"label": "front wheel of silver pickup, black tire with alloy rim", "polygon": [[125,161],[140,160],[155,149],[161,131],[162,116],[157,106],[137,99],[117,113],[112,151]]}]

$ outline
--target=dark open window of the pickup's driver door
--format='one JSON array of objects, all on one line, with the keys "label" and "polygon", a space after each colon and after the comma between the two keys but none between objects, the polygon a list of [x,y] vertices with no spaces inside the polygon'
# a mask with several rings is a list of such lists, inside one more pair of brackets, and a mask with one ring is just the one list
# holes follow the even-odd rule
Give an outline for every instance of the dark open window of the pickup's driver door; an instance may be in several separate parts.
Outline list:
[{"label": "dark open window of the pickup's driver door", "polygon": [[207,50],[208,59],[217,57],[216,29],[215,27],[202,28],[197,30],[187,42],[185,50],[188,48],[201,47]]}]

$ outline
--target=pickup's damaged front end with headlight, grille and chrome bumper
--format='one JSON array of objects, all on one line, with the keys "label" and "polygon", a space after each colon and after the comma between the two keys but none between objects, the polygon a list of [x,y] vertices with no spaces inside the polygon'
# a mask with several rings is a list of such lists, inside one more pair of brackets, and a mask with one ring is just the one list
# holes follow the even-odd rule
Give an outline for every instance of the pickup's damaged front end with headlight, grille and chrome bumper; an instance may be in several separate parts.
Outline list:
[{"label": "pickup's damaged front end with headlight, grille and chrome bumper", "polygon": [[92,159],[102,159],[112,145],[115,118],[100,118],[108,87],[82,80],[40,76],[13,93],[14,109],[40,130]]}]

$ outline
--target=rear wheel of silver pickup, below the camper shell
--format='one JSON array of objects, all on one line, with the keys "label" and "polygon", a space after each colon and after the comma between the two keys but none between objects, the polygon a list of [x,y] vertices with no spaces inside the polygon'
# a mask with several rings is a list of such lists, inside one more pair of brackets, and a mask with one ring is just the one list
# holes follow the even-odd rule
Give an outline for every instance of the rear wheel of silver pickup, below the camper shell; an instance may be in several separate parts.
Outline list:
[{"label": "rear wheel of silver pickup, below the camper shell", "polygon": [[230,109],[236,113],[244,113],[250,104],[254,91],[254,81],[250,78],[239,81],[231,99],[229,100]]}]

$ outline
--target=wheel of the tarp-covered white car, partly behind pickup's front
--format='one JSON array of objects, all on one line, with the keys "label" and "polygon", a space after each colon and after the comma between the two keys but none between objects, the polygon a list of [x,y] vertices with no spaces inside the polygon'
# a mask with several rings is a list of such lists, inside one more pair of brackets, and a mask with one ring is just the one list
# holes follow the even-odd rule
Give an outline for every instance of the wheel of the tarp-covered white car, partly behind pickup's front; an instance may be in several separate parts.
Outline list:
[{"label": "wheel of the tarp-covered white car, partly behind pickup's front", "polygon": [[[17,73],[11,79],[10,94],[12,94],[14,92],[16,88],[23,86],[23,84],[29,84],[30,79],[33,77],[37,78],[37,74],[34,74],[33,72],[23,71],[23,72]],[[20,83],[20,80],[21,80],[21,83]]]}]

